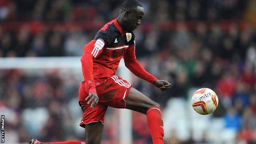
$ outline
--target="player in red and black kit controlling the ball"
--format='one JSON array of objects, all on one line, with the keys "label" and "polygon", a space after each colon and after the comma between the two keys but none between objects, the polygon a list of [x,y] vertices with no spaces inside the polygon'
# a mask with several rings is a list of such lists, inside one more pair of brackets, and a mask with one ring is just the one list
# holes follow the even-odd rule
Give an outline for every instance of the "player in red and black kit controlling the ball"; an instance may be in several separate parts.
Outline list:
[{"label": "player in red and black kit controlling the ball", "polygon": [[[85,128],[87,144],[100,144],[107,107],[126,108],[146,114],[153,144],[164,144],[164,127],[160,105],[134,89],[129,82],[115,75],[123,58],[126,67],[162,91],[171,84],[158,80],[139,64],[135,57],[135,30],[141,23],[144,9],[137,0],[125,0],[118,18],[105,24],[84,47],[81,58],[84,80],[79,89],[79,105],[83,111],[80,126]],[[86,144],[67,141],[50,144]],[[32,139],[30,144],[41,144]],[[42,143],[43,144],[43,143]]]}]

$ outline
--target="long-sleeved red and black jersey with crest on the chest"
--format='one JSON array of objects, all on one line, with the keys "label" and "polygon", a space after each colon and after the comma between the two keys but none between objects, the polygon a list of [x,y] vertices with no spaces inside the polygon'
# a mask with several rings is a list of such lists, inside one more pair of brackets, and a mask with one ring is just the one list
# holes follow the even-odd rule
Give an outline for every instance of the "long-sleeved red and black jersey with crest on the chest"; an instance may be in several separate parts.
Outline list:
[{"label": "long-sleeved red and black jersey with crest on the chest", "polygon": [[84,47],[82,73],[88,82],[89,92],[96,93],[95,78],[115,75],[119,62],[124,59],[126,67],[139,78],[153,83],[157,78],[148,73],[135,57],[135,35],[123,31],[117,19],[105,24],[92,41]]}]

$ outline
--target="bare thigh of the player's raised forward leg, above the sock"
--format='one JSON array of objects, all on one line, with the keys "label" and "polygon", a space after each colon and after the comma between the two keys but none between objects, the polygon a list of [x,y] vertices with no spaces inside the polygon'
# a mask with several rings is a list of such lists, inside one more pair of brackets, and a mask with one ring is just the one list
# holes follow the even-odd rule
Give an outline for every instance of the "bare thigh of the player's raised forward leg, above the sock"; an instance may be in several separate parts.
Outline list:
[{"label": "bare thigh of the player's raised forward leg, above the sock", "polygon": [[142,112],[146,114],[146,110],[149,107],[160,105],[155,101],[152,101],[149,97],[142,94],[135,88],[131,88],[126,99],[126,109],[135,110],[137,112]]}]

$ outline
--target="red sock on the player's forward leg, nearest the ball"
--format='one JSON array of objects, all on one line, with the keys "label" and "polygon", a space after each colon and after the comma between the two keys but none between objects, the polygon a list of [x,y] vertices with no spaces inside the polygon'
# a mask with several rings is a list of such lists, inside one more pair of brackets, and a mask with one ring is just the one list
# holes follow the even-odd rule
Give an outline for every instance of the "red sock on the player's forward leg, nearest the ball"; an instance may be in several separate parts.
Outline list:
[{"label": "red sock on the player's forward leg, nearest the ball", "polygon": [[146,117],[153,144],[164,144],[164,123],[160,108],[157,106],[149,107],[146,111]]}]

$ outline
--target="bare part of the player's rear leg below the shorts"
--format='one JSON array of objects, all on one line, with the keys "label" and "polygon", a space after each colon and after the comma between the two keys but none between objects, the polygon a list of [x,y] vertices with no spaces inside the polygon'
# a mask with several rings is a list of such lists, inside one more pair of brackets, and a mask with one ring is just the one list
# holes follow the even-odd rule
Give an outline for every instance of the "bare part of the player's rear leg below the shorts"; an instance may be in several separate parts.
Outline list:
[{"label": "bare part of the player's rear leg below the shorts", "polygon": [[101,135],[103,124],[101,122],[93,122],[85,125],[85,138],[87,144],[101,144]]}]

